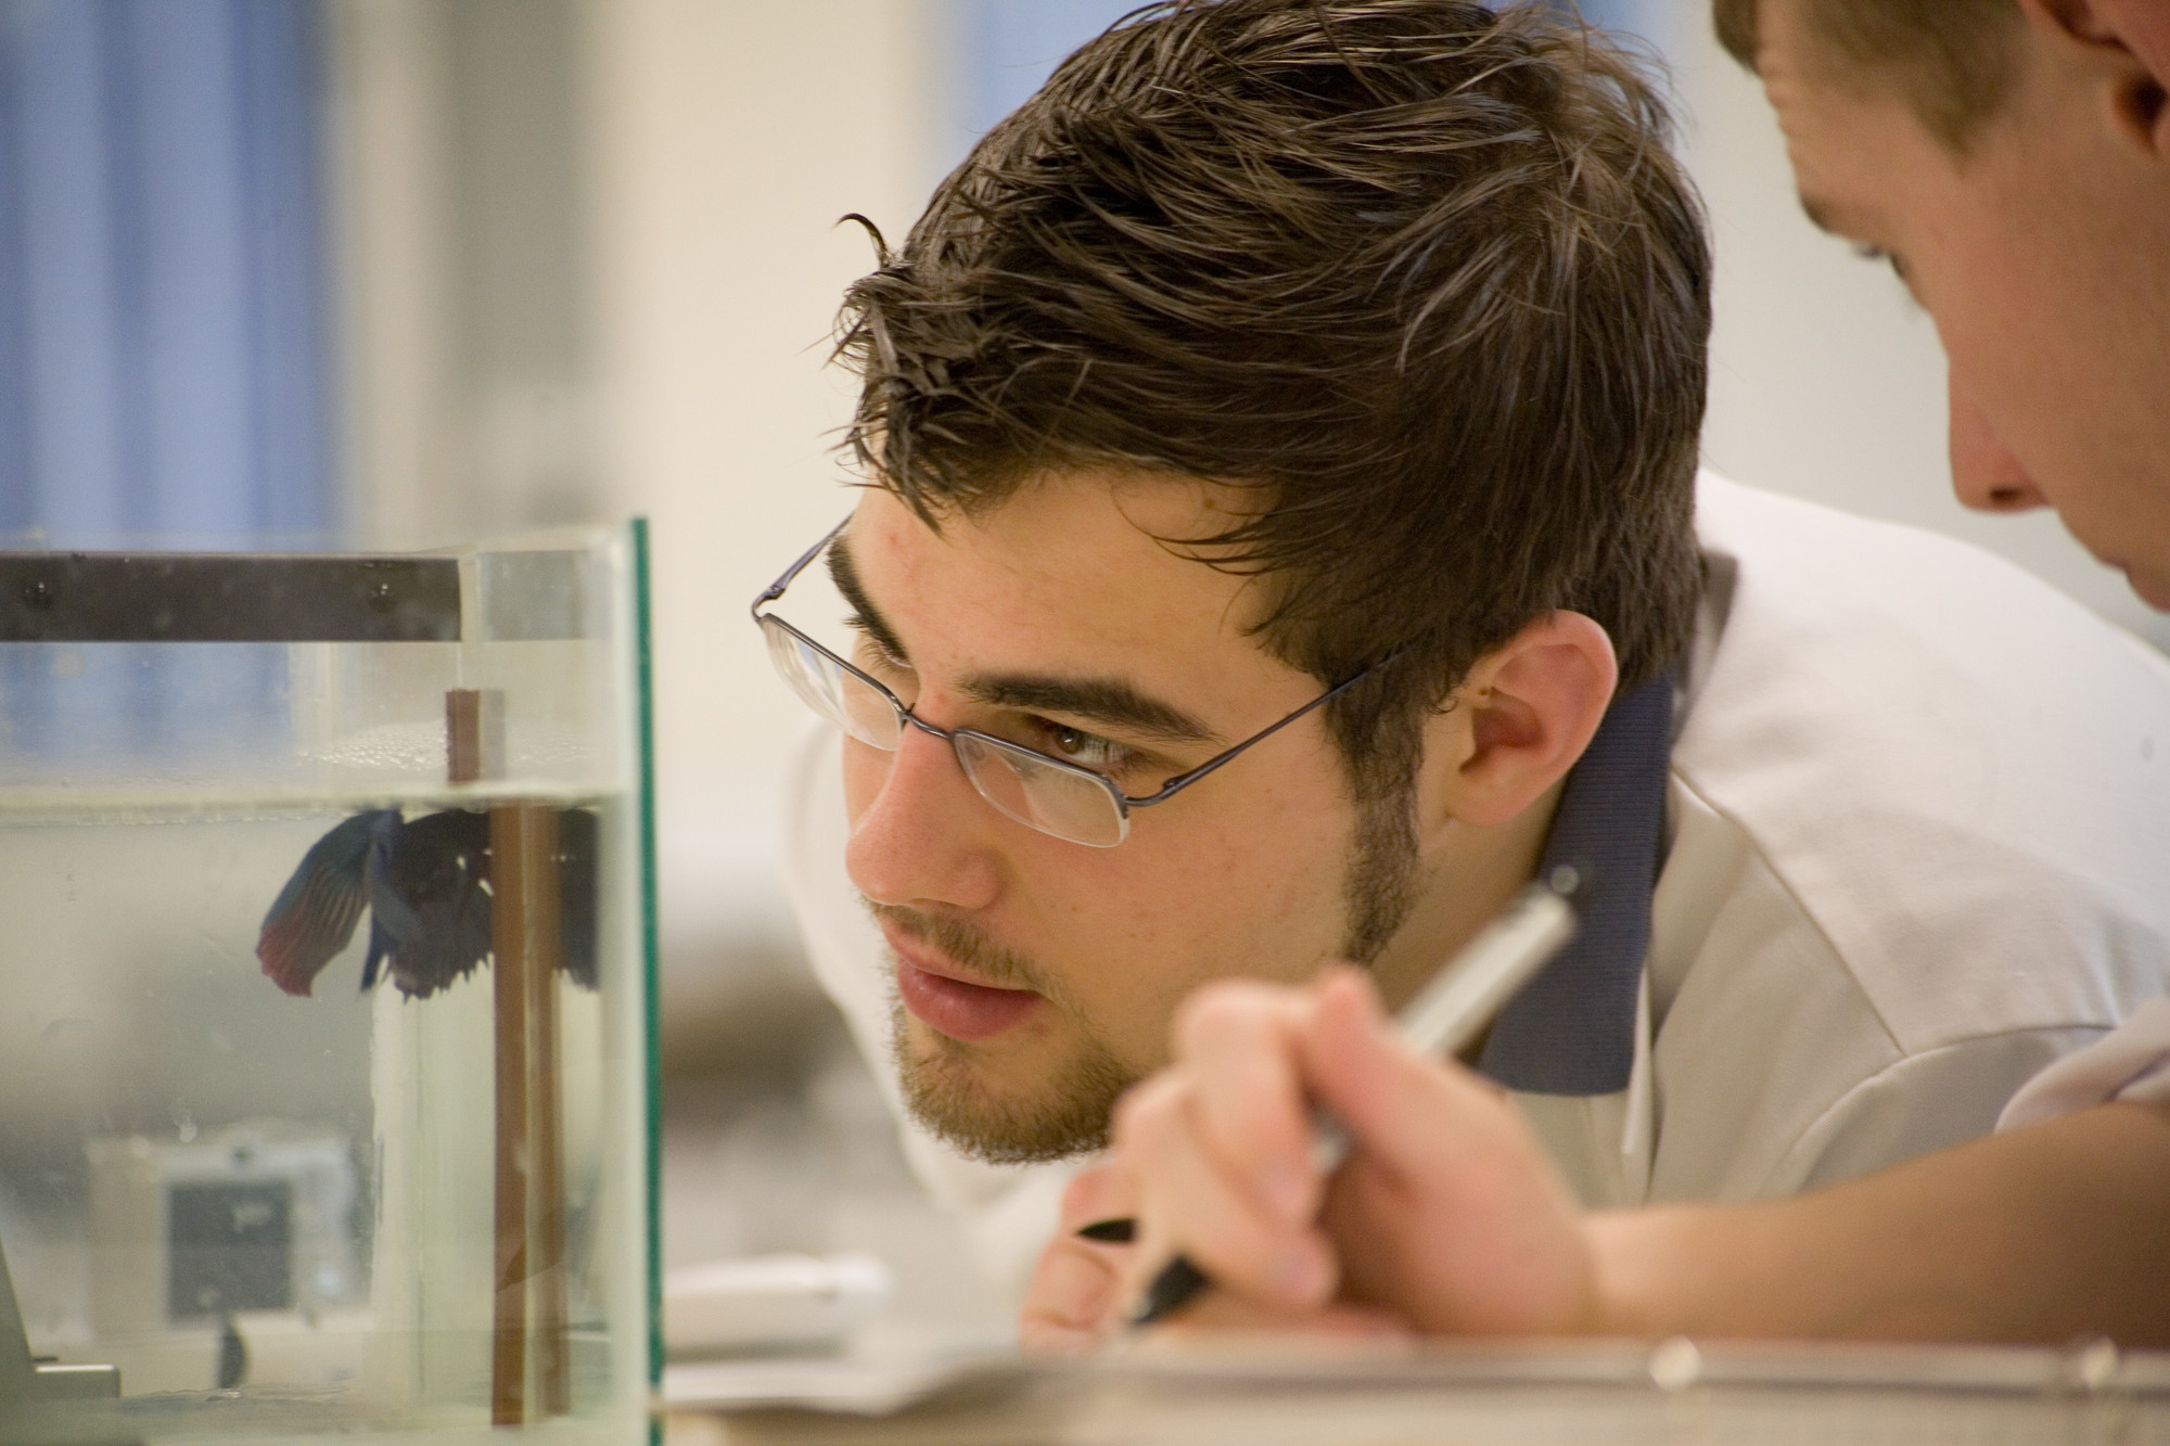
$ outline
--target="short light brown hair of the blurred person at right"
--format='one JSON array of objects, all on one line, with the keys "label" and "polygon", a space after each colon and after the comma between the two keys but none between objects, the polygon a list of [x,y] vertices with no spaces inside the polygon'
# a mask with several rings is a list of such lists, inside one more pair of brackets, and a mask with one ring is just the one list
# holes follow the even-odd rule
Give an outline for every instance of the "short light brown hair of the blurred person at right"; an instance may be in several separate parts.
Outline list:
[{"label": "short light brown hair of the blurred person at right", "polygon": [[[1795,0],[1808,33],[1836,65],[1897,83],[1914,117],[1964,150],[2012,89],[2016,0]],[[1719,43],[1756,69],[1764,0],[1712,0]]]}]

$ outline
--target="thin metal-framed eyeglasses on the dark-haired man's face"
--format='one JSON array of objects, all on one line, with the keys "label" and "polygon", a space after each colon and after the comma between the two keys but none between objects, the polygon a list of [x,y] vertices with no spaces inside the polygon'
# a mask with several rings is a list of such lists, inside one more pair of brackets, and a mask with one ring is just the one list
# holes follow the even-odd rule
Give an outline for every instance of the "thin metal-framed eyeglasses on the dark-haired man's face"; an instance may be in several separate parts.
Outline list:
[{"label": "thin metal-framed eyeglasses on the dark-haired man's face", "polygon": [[768,658],[777,664],[777,673],[783,675],[783,682],[790,684],[792,693],[796,693],[807,708],[829,719],[859,743],[877,747],[883,753],[894,753],[903,745],[905,725],[911,725],[933,738],[942,738],[950,745],[950,751],[957,756],[957,766],[963,769],[963,775],[972,782],[979,797],[994,803],[1000,814],[1016,819],[1026,827],[1035,827],[1042,834],[1068,838],[1070,842],[1081,842],[1094,849],[1113,849],[1131,836],[1133,808],[1165,803],[1176,792],[1202,779],[1207,773],[1233,762],[1252,745],[1265,743],[1289,723],[1295,723],[1306,712],[1322,708],[1348,688],[1354,688],[1358,682],[1400,656],[1389,654],[1387,658],[1380,658],[1354,677],[1348,677],[1345,682],[1339,682],[1317,695],[1280,723],[1252,734],[1226,753],[1209,758],[1189,773],[1178,773],[1176,777],[1163,782],[1159,790],[1135,797],[1118,788],[1105,773],[1094,773],[1092,769],[1083,769],[1061,758],[1048,758],[1046,753],[1020,747],[1007,738],[996,738],[994,734],[983,734],[972,727],[935,727],[905,708],[903,701],[898,701],[898,697],[885,686],[844,662],[775,612],[762,612],[762,606],[783,597],[783,588],[792,584],[792,578],[803,573],[842,530],[844,523],[831,528],[829,536],[818,541],[803,558],[792,562],[781,578],[753,599],[753,621],[760,625],[762,636],[768,638]]}]

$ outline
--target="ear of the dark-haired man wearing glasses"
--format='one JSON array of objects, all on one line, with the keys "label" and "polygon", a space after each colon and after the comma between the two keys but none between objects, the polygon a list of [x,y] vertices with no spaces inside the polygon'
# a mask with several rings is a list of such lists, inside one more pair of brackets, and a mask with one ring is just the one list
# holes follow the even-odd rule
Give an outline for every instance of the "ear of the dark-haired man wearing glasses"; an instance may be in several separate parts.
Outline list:
[{"label": "ear of the dark-haired man wearing glasses", "polygon": [[1469,669],[1454,706],[1426,730],[1437,806],[1426,812],[1476,825],[1521,814],[1582,758],[1617,682],[1612,638],[1593,619],[1532,621]]}]

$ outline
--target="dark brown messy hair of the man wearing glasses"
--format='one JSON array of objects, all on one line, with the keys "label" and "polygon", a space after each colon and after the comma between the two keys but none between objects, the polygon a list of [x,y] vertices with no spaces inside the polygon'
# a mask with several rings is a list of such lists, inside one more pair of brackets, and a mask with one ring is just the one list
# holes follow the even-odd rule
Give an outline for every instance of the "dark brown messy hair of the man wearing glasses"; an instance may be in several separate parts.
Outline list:
[{"label": "dark brown messy hair of the man wearing glasses", "polygon": [[[1261,573],[1361,799],[1532,619],[1632,688],[1684,649],[1710,256],[1667,113],[1539,7],[1170,0],[996,126],[853,284],[851,445],[929,525],[1033,475],[1256,491],[1170,538]],[[877,239],[879,241],[879,239]]]}]

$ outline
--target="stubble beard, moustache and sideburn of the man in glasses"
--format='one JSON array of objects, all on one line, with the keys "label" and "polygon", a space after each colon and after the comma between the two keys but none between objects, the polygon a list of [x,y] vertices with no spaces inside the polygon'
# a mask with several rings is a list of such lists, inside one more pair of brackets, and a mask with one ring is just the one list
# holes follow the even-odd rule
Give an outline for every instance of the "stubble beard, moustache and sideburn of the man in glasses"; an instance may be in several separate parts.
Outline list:
[{"label": "stubble beard, moustache and sideburn of the man in glasses", "polygon": [[[1341,953],[1369,964],[1402,927],[1415,901],[1417,838],[1408,795],[1358,808],[1343,875]],[[1044,1164],[1107,1149],[1115,1099],[1137,1083],[1131,1070],[1046,984],[1046,971],[987,942],[957,921],[894,905],[872,905],[911,938],[924,940],[992,984],[1037,990],[1076,1023],[1081,1047],[1024,1099],[998,1099],[979,1079],[974,1047],[929,1029],[922,1051],[903,1001],[890,1003],[890,1049],[911,1118],[972,1159]]]}]

